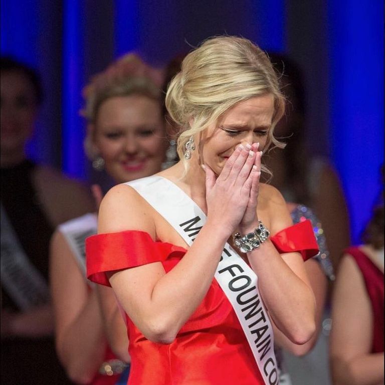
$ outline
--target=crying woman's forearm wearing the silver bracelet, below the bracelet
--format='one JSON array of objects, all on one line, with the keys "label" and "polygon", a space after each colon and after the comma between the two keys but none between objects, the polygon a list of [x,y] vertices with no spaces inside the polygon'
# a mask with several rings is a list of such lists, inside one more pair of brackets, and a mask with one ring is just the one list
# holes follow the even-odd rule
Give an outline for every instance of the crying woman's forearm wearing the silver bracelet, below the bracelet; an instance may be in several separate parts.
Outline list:
[{"label": "crying woman's forearm wearing the silver bracelet, below the bracelet", "polygon": [[270,240],[248,257],[274,323],[290,341],[307,342],[315,331],[315,300],[311,288],[290,269]]}]

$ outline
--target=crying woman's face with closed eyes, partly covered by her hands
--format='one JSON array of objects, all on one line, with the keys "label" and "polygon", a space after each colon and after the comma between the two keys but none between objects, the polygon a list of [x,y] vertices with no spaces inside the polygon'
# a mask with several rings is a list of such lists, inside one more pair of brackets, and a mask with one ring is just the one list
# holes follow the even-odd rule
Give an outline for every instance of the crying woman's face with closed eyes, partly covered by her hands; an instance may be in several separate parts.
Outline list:
[{"label": "crying woman's face with closed eyes, partly covered by her hands", "polygon": [[273,95],[258,96],[230,108],[202,133],[201,161],[219,175],[239,144],[259,142],[264,150],[274,114]]}]

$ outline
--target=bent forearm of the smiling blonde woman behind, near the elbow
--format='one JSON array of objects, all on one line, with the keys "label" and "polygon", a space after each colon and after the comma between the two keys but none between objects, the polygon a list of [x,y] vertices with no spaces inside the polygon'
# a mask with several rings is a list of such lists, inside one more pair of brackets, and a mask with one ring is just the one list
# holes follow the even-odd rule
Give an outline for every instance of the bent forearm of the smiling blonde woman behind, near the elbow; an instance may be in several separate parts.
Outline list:
[{"label": "bent forearm of the smiling blonde woman behind, near the elbow", "polygon": [[58,355],[70,378],[87,383],[97,372],[105,353],[105,337],[94,292],[77,318],[57,336]]}]

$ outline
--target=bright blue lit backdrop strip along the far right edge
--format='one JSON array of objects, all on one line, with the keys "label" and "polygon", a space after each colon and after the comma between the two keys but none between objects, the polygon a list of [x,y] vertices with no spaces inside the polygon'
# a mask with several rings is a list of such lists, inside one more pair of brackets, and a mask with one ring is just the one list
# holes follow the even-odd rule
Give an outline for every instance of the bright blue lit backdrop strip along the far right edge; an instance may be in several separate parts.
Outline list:
[{"label": "bright blue lit backdrop strip along the far right edge", "polygon": [[383,2],[329,2],[330,139],[353,242],[378,196],[383,163]]}]

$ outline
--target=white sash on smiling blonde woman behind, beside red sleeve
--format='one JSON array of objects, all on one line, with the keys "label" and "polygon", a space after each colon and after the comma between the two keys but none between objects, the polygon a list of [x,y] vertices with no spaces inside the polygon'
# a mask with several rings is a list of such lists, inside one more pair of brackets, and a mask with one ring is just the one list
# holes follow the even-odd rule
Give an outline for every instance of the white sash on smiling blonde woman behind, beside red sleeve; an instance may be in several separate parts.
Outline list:
[{"label": "white sash on smiling blonde woman behind, beside red sleeve", "polygon": [[[75,218],[65,222],[59,226],[60,232],[63,234],[84,278],[86,279],[86,238],[97,233],[98,219],[96,214],[86,214],[82,217]],[[87,280],[87,279],[86,279]],[[87,284],[90,281],[87,280]]]}]

